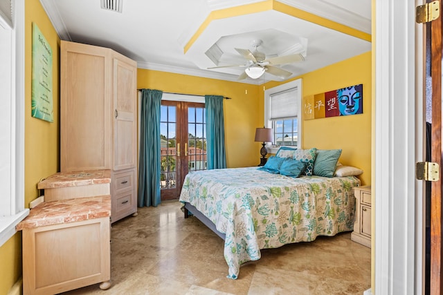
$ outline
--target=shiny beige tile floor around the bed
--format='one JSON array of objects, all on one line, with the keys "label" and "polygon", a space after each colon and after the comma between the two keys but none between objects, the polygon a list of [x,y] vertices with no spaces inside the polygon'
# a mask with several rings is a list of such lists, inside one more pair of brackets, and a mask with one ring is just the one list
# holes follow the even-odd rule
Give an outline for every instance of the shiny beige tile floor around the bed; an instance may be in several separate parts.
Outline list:
[{"label": "shiny beige tile floor around the bed", "polygon": [[223,243],[177,201],[138,209],[111,230],[111,288],[65,294],[363,294],[370,287],[370,249],[350,233],[262,250],[260,260],[226,278]]}]

